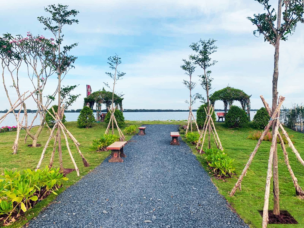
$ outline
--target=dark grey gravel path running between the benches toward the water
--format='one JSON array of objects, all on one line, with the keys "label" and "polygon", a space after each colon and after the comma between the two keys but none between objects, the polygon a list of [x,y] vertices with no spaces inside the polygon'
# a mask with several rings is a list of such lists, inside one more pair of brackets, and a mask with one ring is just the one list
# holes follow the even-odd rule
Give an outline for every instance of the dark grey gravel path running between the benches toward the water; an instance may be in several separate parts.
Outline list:
[{"label": "dark grey gravel path running between the benches toward the water", "polygon": [[147,125],[123,163],[107,158],[29,227],[248,227],[219,195],[191,149],[170,145],[177,125]]}]

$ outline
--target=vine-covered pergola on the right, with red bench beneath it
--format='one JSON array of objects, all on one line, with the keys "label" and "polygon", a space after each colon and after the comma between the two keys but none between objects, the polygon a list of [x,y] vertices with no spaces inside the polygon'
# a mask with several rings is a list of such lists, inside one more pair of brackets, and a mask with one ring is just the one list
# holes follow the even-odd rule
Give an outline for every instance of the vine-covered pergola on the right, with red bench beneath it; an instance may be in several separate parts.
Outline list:
[{"label": "vine-covered pergola on the right, with red bench beneath it", "polygon": [[224,102],[225,113],[227,112],[228,105],[230,109],[233,101],[239,101],[242,109],[247,111],[247,115],[250,117],[250,97],[251,95],[247,95],[243,90],[227,86],[226,88],[214,92],[209,99],[213,106],[218,100]]}]

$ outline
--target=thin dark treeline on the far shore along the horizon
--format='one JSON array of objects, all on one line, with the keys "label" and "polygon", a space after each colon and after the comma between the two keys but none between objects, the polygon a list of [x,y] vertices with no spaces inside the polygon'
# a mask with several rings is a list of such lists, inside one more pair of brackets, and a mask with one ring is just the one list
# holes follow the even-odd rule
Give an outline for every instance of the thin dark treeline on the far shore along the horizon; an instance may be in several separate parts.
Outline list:
[{"label": "thin dark treeline on the far shore along the horizon", "polygon": [[[5,109],[3,111],[0,111],[0,113],[6,113],[8,109]],[[66,110],[66,112],[80,112],[81,109],[71,109],[71,110]],[[124,109],[124,112],[189,112],[189,110],[182,110],[182,109]],[[193,112],[196,112],[197,109],[193,109]],[[224,109],[214,109],[215,112],[224,112]],[[257,111],[257,109],[250,109],[250,111]],[[19,112],[19,110],[15,110],[16,113]],[[28,113],[36,113],[37,110],[31,110],[27,109]],[[93,112],[96,112],[96,109],[93,109]],[[107,112],[106,109],[102,109],[101,112]],[[21,110],[21,113],[24,113],[23,110]]]}]

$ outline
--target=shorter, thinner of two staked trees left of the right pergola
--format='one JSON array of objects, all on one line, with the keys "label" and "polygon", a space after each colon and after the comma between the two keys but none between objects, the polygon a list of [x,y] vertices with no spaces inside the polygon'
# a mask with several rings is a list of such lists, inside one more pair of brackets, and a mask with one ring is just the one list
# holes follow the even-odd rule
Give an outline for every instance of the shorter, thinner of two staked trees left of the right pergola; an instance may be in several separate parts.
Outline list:
[{"label": "shorter, thinner of two staked trees left of the right pergola", "polygon": [[[196,83],[192,81],[192,74],[195,71],[195,66],[192,64],[191,61],[183,59],[184,64],[181,65],[181,69],[185,71],[185,74],[189,76],[189,81],[183,80],[183,84],[189,89],[190,91],[190,102],[186,100],[185,102],[189,104],[189,116],[188,116],[188,124],[187,124],[187,129],[186,133],[189,130],[189,119],[190,119],[190,129],[192,132],[192,105],[195,103],[196,99],[202,98],[202,96],[198,93],[192,95],[192,90],[195,88]],[[193,117],[194,118],[194,117]],[[195,119],[194,119],[195,121]],[[198,129],[199,130],[199,129]]]}]

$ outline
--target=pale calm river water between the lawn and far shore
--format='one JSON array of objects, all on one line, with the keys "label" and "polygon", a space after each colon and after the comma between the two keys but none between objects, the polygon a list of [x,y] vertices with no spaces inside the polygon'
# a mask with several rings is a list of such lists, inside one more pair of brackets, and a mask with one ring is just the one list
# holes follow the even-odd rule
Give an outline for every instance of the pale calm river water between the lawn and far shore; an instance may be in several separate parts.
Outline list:
[{"label": "pale calm river water between the lawn and far shore", "polygon": [[[255,111],[250,112],[250,119],[252,120]],[[3,113],[4,114],[4,113]],[[0,116],[3,115],[0,113]],[[123,116],[126,120],[187,120],[188,119],[188,112],[124,112]],[[193,112],[194,116],[196,117],[196,112]],[[29,119],[29,125],[33,118],[35,117],[35,113],[28,113],[28,119]],[[66,121],[76,121],[79,112],[67,112],[64,114]],[[96,113],[94,113],[94,116]],[[23,113],[20,113],[20,119],[22,119]],[[217,119],[217,118],[216,118]],[[37,118],[34,121],[33,125],[39,125],[40,120]],[[4,121],[0,124],[0,127],[2,126],[16,126],[16,119],[13,113],[9,113],[9,115],[6,116]]]}]

